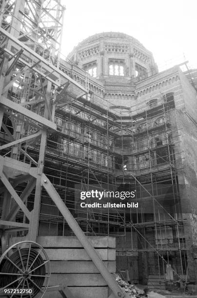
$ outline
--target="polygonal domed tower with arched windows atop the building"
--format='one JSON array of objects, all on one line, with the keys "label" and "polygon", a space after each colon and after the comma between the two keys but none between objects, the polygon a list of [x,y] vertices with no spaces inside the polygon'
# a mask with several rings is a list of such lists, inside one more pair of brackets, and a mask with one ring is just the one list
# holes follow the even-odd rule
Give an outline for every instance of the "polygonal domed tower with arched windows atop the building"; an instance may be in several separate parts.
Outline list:
[{"label": "polygonal domed tower with arched windows atop the building", "polygon": [[84,39],[68,58],[89,75],[106,81],[146,78],[158,73],[153,55],[136,38],[105,32]]}]

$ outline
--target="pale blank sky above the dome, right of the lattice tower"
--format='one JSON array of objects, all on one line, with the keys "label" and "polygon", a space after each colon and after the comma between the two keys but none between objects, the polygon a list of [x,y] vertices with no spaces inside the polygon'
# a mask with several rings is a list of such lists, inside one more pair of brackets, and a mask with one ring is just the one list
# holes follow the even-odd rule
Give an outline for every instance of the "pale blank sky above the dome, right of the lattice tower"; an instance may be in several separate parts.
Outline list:
[{"label": "pale blank sky above the dome, right of the lattice tower", "polygon": [[122,32],[153,53],[159,69],[189,60],[197,68],[197,0],[62,0],[65,56],[83,39]]}]

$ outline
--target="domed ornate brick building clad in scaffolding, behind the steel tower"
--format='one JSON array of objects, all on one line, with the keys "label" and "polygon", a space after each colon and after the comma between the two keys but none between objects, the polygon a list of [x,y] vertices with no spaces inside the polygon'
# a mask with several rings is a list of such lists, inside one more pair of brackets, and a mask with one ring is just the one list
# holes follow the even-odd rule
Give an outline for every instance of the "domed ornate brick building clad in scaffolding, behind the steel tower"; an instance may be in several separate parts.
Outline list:
[{"label": "domed ornate brick building clad in scaffolding, behind the steel tower", "polygon": [[[75,183],[136,189],[143,207],[125,215],[126,237],[117,242],[119,269],[147,284],[149,276],[164,276],[170,263],[174,279],[188,274],[195,280],[197,101],[189,73],[178,66],[159,73],[152,53],[137,39],[113,32],[79,43],[60,69],[89,94],[68,97],[57,110],[59,135],[48,138],[45,173],[50,177],[52,164],[54,171],[61,168],[53,183],[66,187],[73,210]],[[64,197],[64,190],[59,193]],[[49,210],[58,216],[45,203],[43,198],[40,218]],[[86,212],[75,209],[84,230]],[[109,224],[104,215],[101,221],[94,212],[88,216],[96,233],[108,230],[119,239],[118,215],[110,214]],[[60,220],[50,223],[51,232],[40,222],[40,235],[70,235]]]}]

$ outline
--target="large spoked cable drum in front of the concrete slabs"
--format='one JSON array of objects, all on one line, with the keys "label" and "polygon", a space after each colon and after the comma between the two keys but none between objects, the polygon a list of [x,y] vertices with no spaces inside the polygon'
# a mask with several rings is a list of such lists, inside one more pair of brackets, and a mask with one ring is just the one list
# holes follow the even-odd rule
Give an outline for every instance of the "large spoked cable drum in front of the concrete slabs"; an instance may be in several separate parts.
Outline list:
[{"label": "large spoked cable drum in front of the concrete slabs", "polygon": [[[16,243],[0,258],[0,293],[5,293],[6,289],[15,289],[15,293],[13,291],[9,294],[10,298],[43,297],[49,278],[50,261],[44,249],[36,242]],[[20,293],[17,294],[16,290]]]}]

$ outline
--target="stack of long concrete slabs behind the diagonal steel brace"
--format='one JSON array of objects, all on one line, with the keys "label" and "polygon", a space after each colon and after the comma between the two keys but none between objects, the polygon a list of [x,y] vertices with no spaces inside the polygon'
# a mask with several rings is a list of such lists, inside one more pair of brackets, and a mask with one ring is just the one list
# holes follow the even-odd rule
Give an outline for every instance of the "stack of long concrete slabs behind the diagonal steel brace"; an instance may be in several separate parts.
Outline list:
[{"label": "stack of long concrete slabs behind the diagonal steel brace", "polygon": [[[109,272],[116,272],[116,240],[113,237],[88,237]],[[106,281],[76,237],[39,236],[51,261],[50,286],[69,287],[75,298],[107,298]],[[47,293],[47,298],[61,298],[59,292]]]}]

